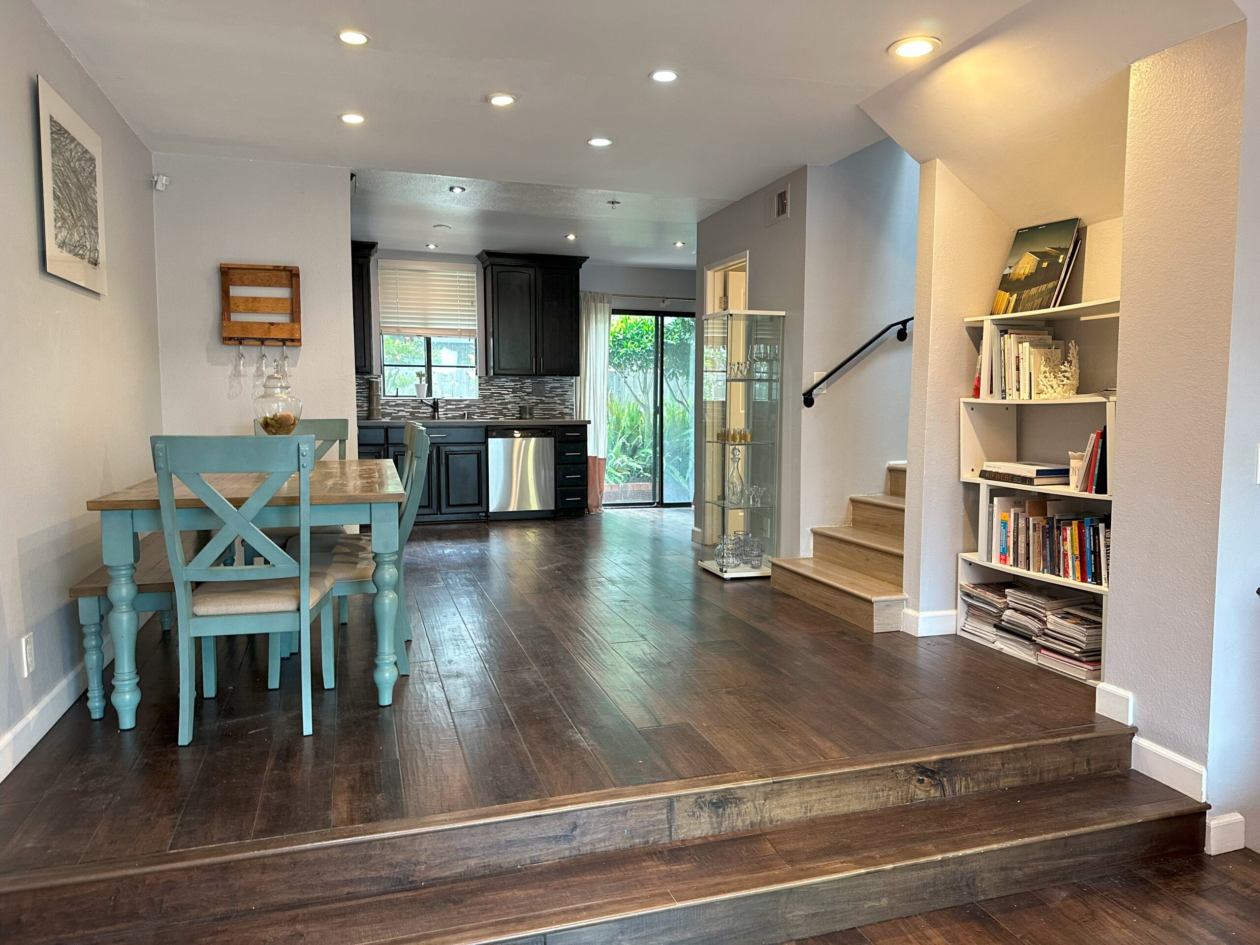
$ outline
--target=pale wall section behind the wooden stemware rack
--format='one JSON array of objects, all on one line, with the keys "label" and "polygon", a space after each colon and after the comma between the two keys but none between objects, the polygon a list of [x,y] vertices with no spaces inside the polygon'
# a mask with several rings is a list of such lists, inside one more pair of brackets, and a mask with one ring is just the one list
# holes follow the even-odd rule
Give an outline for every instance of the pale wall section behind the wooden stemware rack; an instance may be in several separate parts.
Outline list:
[{"label": "pale wall section behind the wooden stemware rack", "polygon": [[[152,166],[170,176],[154,202],[165,432],[253,430],[249,377],[227,396],[236,345],[219,338],[220,262],[301,268],[294,392],[307,417],[354,417],[349,170],[174,154]],[[246,357],[252,372],[258,348]]]}]

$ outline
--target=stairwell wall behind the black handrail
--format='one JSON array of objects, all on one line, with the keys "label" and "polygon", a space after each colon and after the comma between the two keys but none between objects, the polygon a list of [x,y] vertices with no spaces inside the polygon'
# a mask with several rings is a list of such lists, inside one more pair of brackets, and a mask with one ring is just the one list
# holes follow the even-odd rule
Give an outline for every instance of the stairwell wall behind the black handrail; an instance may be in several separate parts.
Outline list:
[{"label": "stairwell wall behind the black handrail", "polygon": [[[844,520],[848,496],[882,493],[890,460],[906,459],[912,340],[890,334],[835,378],[810,410],[800,389],[890,321],[914,315],[919,164],[885,139],[838,164],[809,168],[805,212],[800,547],[811,525]],[[911,339],[914,335],[911,335]]]}]

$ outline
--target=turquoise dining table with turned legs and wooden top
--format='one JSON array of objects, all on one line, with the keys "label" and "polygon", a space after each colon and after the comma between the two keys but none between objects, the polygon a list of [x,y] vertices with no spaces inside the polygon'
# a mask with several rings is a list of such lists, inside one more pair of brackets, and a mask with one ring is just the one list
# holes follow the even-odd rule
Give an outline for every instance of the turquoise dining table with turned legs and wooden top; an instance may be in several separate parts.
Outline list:
[{"label": "turquoise dining table with turned legs and wooden top", "polygon": [[[204,479],[234,507],[243,505],[267,478],[265,472],[208,474]],[[311,525],[369,525],[375,570],[373,617],[377,654],[372,679],[377,702],[393,703],[398,679],[394,659],[394,620],[398,614],[398,507],[407,499],[398,470],[391,460],[320,460],[310,474]],[[260,528],[295,528],[297,523],[297,476],[290,479],[253,519]],[[89,512],[101,513],[101,551],[110,573],[108,630],[113,639],[113,693],[110,701],[118,713],[120,728],[134,728],[140,704],[140,672],[136,665],[136,636],[140,614],[135,609],[136,561],[140,536],[161,532],[158,478],[129,485],[88,501]],[[175,483],[175,508],[180,532],[217,532],[223,520],[208,509],[183,483]]]}]

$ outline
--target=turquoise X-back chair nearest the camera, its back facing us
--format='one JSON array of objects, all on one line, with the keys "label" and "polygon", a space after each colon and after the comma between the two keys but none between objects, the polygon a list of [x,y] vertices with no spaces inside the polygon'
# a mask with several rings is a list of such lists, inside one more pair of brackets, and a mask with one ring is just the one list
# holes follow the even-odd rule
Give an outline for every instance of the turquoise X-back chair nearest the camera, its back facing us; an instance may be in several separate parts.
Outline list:
[{"label": "turquoise X-back chair nearest the camera, its back facing us", "polygon": [[[311,614],[323,610],[323,626],[331,626],[335,583],[326,566],[311,566],[310,471],[315,464],[315,437],[155,436],[151,442],[179,617],[179,743],[188,745],[193,740],[197,672],[193,640],[202,640],[203,685],[210,697],[215,688],[214,639],[237,634],[267,635],[267,687],[271,689],[280,685],[280,649],[286,638],[297,634],[302,735],[311,735]],[[205,478],[249,472],[266,478],[239,508]],[[295,476],[297,536],[286,548],[280,548],[255,519]],[[180,536],[176,480],[202,501],[219,525],[215,529],[199,524],[199,530],[204,528],[212,534],[192,561],[185,557]],[[224,549],[237,538],[258,549],[266,563],[223,564]],[[331,636],[331,630],[325,635]]]}]

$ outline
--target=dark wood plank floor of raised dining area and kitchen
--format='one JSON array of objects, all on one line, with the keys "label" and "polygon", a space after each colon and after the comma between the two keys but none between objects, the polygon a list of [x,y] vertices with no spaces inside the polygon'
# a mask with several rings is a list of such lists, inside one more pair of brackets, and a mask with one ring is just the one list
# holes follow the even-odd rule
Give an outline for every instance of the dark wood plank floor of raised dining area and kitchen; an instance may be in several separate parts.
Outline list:
[{"label": "dark wood plank floor of raised dining area and kitchen", "polygon": [[1095,719],[1091,688],[965,640],[876,636],[769,582],[722,582],[696,567],[690,522],[417,529],[412,675],[377,707],[370,602],[354,601],[310,738],[296,660],[270,692],[263,643],[231,638],[178,747],[174,641],[151,621],[136,728],[81,699],[0,782],[0,872]]}]

